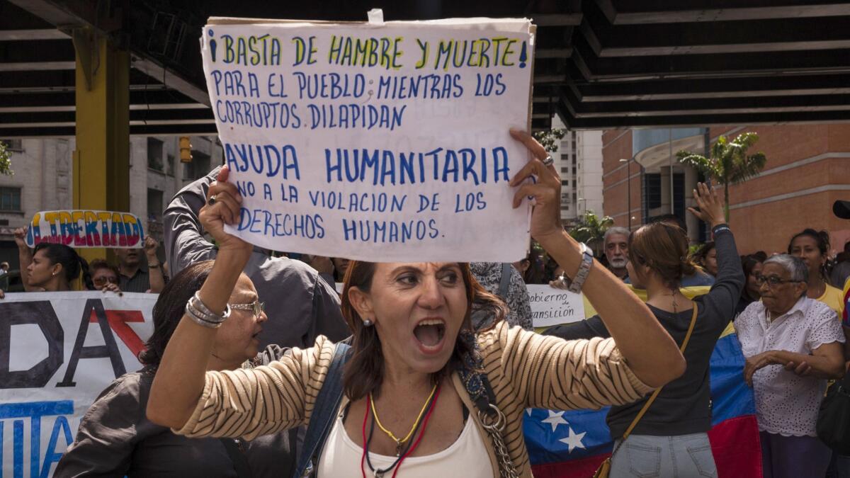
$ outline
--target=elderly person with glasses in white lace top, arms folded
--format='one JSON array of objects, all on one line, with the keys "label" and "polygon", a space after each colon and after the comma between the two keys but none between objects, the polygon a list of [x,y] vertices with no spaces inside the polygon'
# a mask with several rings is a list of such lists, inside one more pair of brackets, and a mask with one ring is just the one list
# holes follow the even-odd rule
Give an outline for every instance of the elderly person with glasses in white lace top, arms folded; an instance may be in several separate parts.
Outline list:
[{"label": "elderly person with glasses in white lace top, arms folded", "polygon": [[762,301],[741,312],[735,329],[756,395],[764,476],[823,476],[830,449],[815,423],[826,380],[844,375],[841,322],[828,305],[806,297],[802,259],[776,255],[756,279]]}]

